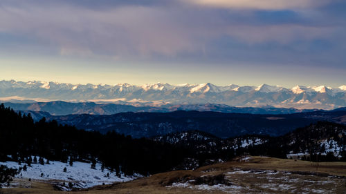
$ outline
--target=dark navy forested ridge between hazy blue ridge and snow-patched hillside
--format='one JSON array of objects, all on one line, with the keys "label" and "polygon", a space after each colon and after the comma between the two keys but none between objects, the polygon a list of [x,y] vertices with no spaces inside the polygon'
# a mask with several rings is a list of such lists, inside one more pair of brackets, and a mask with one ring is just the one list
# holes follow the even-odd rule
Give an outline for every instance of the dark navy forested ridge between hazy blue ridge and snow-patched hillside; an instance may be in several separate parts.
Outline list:
[{"label": "dark navy forested ridge between hazy blue ridge and snow-patched hillside", "polygon": [[46,117],[85,130],[152,137],[200,130],[217,137],[259,134],[279,136],[318,121],[346,124],[346,111],[315,111],[285,115],[255,115],[178,110],[171,113],[118,113],[114,115],[65,115]]}]

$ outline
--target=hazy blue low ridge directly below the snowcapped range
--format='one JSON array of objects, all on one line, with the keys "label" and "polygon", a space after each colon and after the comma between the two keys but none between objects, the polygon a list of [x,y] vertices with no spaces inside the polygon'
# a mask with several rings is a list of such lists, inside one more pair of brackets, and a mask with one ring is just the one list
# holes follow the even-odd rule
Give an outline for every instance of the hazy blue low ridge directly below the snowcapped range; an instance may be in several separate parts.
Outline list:
[{"label": "hazy blue low ridge directly below the snowcapped range", "polygon": [[176,110],[197,110],[214,111],[220,113],[251,113],[251,114],[290,114],[316,111],[317,109],[295,109],[295,108],[275,108],[267,107],[235,107],[225,104],[164,104],[161,106],[132,106],[130,104],[95,104],[93,102],[66,102],[48,101],[34,103],[12,103],[3,102],[5,106],[10,106],[14,110],[30,110],[47,112],[51,115],[72,115],[72,114],[91,114],[91,115],[112,115],[125,112],[158,112],[167,113]]}]

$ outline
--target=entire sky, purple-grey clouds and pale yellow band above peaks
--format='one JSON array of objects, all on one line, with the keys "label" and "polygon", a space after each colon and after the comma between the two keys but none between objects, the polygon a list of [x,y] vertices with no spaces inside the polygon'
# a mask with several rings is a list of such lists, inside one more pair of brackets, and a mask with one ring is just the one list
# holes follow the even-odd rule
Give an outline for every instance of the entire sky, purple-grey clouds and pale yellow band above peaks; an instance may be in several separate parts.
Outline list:
[{"label": "entire sky, purple-grey clouds and pale yellow band above peaks", "polygon": [[0,79],[346,84],[345,0],[1,0]]}]

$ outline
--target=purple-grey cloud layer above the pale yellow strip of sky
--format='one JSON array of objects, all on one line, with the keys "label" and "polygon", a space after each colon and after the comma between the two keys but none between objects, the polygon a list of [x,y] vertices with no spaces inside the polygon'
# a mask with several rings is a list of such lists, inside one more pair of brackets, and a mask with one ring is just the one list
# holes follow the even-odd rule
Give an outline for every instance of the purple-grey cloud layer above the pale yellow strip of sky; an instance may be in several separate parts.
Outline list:
[{"label": "purple-grey cloud layer above the pale yellow strip of sky", "polygon": [[343,8],[338,0],[3,0],[0,52],[163,68],[174,61],[345,70]]}]

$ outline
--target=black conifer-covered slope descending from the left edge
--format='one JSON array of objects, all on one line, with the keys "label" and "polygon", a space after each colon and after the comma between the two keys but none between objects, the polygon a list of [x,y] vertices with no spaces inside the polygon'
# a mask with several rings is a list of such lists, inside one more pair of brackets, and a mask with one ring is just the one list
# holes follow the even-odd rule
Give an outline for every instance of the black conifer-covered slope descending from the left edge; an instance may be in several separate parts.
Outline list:
[{"label": "black conifer-covered slope descending from the left edge", "polygon": [[[192,153],[186,148],[149,139],[132,139],[118,133],[100,134],[62,126],[0,106],[0,161],[31,162],[31,155],[62,162],[102,162],[125,175],[169,171]],[[42,162],[42,161],[41,161]],[[121,168],[121,169],[120,169]]]}]

